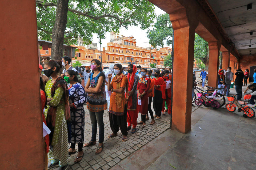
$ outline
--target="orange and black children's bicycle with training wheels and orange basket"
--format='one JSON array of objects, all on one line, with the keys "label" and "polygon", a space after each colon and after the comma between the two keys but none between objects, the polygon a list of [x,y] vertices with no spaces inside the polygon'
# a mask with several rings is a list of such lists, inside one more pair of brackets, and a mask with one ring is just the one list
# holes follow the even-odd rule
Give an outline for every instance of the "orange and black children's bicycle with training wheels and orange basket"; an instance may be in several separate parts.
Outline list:
[{"label": "orange and black children's bicycle with training wheels and orange basket", "polygon": [[[226,104],[227,111],[234,112],[236,110],[236,107],[237,107],[238,112],[243,112],[244,113],[243,117],[255,117],[255,112],[252,109],[253,105],[252,106],[247,105],[247,104],[245,104],[245,101],[244,101],[244,104],[239,103],[239,101],[235,100],[236,95],[237,94],[227,97],[227,100],[231,101],[230,103]],[[246,99],[249,100],[250,98],[251,98],[251,95],[245,95],[244,96],[245,100]]]}]

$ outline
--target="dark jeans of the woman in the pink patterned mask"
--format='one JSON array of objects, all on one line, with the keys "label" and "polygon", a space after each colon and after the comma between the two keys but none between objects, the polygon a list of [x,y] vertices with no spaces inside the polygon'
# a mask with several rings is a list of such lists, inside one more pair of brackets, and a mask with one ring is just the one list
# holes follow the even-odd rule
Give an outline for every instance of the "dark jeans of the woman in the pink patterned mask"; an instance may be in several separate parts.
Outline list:
[{"label": "dark jeans of the woman in the pink patterned mask", "polygon": [[104,122],[103,122],[103,112],[91,112],[89,110],[89,115],[91,119],[91,141],[96,141],[97,135],[97,123],[99,126],[99,143],[104,141]]}]

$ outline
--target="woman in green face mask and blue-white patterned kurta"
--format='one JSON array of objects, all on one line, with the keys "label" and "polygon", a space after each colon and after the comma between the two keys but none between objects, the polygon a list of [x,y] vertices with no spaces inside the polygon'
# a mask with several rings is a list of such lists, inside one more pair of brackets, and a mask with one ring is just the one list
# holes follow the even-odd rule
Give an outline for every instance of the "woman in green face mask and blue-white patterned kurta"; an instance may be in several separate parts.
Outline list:
[{"label": "woman in green face mask and blue-white patterned kurta", "polygon": [[78,76],[74,70],[67,70],[64,79],[69,88],[69,106],[71,123],[71,140],[69,155],[75,154],[75,144],[78,145],[78,154],[75,163],[80,162],[83,157],[83,140],[85,131],[85,110],[83,104],[86,102],[85,89],[78,83]]}]

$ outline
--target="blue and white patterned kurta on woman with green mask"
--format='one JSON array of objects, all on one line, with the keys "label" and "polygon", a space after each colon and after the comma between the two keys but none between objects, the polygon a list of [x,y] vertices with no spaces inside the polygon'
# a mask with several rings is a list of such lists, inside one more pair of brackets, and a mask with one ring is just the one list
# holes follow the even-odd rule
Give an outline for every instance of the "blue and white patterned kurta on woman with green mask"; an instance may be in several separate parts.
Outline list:
[{"label": "blue and white patterned kurta on woman with green mask", "polygon": [[69,87],[69,103],[74,103],[75,107],[70,107],[71,118],[71,143],[83,143],[85,131],[85,110],[83,104],[86,102],[85,89],[81,84],[75,83]]}]

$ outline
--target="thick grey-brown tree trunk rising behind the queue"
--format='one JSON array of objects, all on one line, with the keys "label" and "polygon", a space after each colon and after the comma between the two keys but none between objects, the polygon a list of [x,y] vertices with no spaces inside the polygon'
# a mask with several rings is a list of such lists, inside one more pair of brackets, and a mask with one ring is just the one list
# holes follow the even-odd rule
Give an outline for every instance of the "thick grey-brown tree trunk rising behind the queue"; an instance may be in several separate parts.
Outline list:
[{"label": "thick grey-brown tree trunk rising behind the queue", "polygon": [[69,0],[58,0],[55,23],[53,27],[51,60],[61,60],[63,56],[64,33],[67,25],[67,10]]}]

